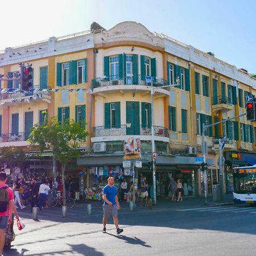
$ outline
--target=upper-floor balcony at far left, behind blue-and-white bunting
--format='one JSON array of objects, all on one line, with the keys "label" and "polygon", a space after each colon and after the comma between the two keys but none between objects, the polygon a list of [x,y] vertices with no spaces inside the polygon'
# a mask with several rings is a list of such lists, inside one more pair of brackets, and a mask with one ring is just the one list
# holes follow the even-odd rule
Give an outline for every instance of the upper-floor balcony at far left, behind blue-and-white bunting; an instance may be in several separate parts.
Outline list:
[{"label": "upper-floor balcony at far left, behind blue-and-white bunting", "polygon": [[12,103],[24,103],[31,100],[46,100],[48,103],[51,102],[51,94],[48,91],[50,89],[40,88],[39,85],[32,86],[30,91],[20,90],[19,88],[5,88],[0,92],[0,103],[1,104],[12,104]]}]

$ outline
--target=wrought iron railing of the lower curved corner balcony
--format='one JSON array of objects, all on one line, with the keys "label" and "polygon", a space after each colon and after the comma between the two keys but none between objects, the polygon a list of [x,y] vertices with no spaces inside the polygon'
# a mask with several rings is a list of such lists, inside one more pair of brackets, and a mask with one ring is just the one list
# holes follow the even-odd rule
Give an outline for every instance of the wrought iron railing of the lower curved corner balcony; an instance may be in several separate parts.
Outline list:
[{"label": "wrought iron railing of the lower curved corner balcony", "polygon": [[[154,135],[157,137],[169,137],[168,129],[162,126],[153,126]],[[93,127],[92,137],[121,136],[121,135],[150,135],[150,127],[142,125],[119,125],[119,126],[97,126]]]}]

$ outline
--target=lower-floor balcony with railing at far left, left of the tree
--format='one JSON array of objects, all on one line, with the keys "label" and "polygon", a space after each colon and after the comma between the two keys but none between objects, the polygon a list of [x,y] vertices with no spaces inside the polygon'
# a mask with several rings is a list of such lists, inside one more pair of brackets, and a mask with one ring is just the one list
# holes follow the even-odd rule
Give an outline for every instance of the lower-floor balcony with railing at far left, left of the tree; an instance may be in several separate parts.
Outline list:
[{"label": "lower-floor balcony with railing at far left, left of the tree", "polygon": [[[0,147],[24,146],[30,144],[27,142],[30,133],[3,133],[0,135]],[[25,142],[25,143],[24,143]]]}]

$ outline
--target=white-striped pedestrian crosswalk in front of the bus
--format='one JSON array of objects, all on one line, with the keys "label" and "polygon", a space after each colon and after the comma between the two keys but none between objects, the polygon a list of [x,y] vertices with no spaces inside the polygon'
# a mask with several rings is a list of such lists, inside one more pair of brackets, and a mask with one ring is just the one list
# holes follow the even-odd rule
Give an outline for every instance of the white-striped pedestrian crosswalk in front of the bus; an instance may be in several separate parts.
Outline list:
[{"label": "white-striped pedestrian crosswalk in front of the bus", "polygon": [[231,212],[231,213],[256,213],[256,208],[247,206],[220,206],[220,207],[204,207],[204,208],[190,208],[190,209],[176,209],[179,212]]}]

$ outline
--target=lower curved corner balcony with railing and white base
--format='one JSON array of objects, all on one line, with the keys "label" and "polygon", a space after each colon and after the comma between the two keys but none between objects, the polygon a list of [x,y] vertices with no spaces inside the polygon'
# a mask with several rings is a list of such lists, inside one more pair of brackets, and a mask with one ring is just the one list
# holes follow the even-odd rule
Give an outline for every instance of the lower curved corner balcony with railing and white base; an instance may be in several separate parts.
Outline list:
[{"label": "lower curved corner balcony with railing and white base", "polygon": [[[153,126],[154,135],[156,141],[169,141],[168,129],[162,126]],[[108,137],[106,141],[115,140],[113,137],[117,137],[118,140],[125,139],[125,137],[141,137],[146,141],[151,140],[151,128],[142,127],[142,125],[120,125],[120,126],[97,126],[93,127],[92,142],[98,141],[97,137]],[[123,138],[120,138],[123,137]]]}]

